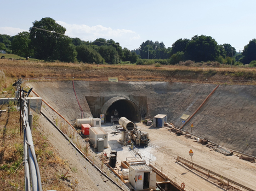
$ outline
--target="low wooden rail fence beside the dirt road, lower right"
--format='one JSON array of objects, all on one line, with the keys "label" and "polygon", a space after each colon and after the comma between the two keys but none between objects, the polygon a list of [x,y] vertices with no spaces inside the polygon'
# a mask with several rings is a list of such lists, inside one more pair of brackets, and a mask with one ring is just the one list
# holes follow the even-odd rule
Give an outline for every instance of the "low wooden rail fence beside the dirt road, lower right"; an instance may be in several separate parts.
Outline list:
[{"label": "low wooden rail fence beside the dirt road, lower right", "polygon": [[[215,172],[213,172],[213,171],[211,171],[211,170],[208,170],[208,169],[206,169],[206,168],[203,168],[202,166],[197,165],[197,164],[195,164],[195,163],[192,163],[192,162],[190,162],[189,160],[186,160],[186,159],[181,158],[181,157],[179,157],[179,156],[177,157],[177,162],[181,162],[182,164],[184,164],[184,165],[186,165],[186,166],[189,166],[190,168],[192,168],[192,169],[194,169],[194,170],[196,170],[196,171],[198,171],[198,172],[201,172],[202,174],[204,174],[204,175],[206,175],[206,176],[208,176],[208,177],[214,178],[215,180],[219,180],[219,181],[220,181],[221,183],[223,183],[223,185],[225,185],[225,186],[232,186],[232,187],[237,186],[237,187],[239,187],[239,188],[237,188],[237,189],[243,188],[243,189],[246,189],[246,190],[249,190],[249,191],[253,191],[253,189],[251,189],[251,188],[248,188],[248,187],[246,187],[246,186],[243,186],[243,185],[240,184],[240,183],[237,183],[237,182],[235,182],[235,181],[232,181],[232,180],[230,180],[229,178],[226,178],[226,177],[224,177],[224,176],[222,176],[222,175],[219,175],[219,174],[217,174],[217,173],[215,173]],[[196,168],[195,168],[195,166],[196,166]]]}]

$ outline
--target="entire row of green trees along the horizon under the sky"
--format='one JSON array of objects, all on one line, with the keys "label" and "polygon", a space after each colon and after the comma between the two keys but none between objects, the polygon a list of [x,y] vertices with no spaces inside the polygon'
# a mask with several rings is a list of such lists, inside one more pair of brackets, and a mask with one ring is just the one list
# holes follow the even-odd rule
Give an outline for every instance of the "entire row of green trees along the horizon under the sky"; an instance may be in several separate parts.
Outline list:
[{"label": "entire row of green trees along the horizon under the sky", "polygon": [[143,59],[147,58],[163,64],[177,64],[186,60],[217,61],[221,64],[249,64],[252,61],[256,63],[256,39],[249,41],[242,53],[236,52],[235,47],[230,44],[219,45],[214,38],[206,35],[178,39],[172,47],[166,47],[163,42],[147,40],[139,49],[130,51],[112,39],[84,41],[67,37],[66,29],[49,17],[32,24],[29,32],[21,32],[13,37],[0,34],[0,50],[44,61],[96,64],[143,64]]}]

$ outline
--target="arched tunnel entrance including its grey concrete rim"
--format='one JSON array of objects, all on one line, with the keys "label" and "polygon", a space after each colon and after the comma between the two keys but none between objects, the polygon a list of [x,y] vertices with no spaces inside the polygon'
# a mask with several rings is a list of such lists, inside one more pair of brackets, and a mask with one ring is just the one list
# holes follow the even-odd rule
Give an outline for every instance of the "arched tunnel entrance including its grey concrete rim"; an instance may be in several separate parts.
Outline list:
[{"label": "arched tunnel entrance including its grey concrete rim", "polygon": [[139,106],[132,100],[124,97],[113,97],[101,109],[101,114],[105,114],[105,122],[111,120],[111,115],[115,109],[119,112],[119,118],[126,117],[128,120],[136,122],[141,120]]}]

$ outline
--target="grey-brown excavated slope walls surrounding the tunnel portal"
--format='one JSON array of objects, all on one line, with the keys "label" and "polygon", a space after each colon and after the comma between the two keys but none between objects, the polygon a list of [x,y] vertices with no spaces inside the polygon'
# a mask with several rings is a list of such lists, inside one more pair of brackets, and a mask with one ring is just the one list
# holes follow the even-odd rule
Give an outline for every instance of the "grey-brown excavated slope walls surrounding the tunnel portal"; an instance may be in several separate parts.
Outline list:
[{"label": "grey-brown excavated slope walls surrounding the tunnel portal", "polygon": [[[30,82],[28,85],[69,120],[80,118],[72,81]],[[92,114],[87,96],[145,96],[147,116],[167,114],[168,121],[177,127],[182,125],[180,117],[192,115],[215,87],[181,82],[75,81],[77,97],[88,117]],[[184,128],[190,130],[190,124],[194,123],[196,135],[256,156],[255,95],[255,86],[220,85]]]}]

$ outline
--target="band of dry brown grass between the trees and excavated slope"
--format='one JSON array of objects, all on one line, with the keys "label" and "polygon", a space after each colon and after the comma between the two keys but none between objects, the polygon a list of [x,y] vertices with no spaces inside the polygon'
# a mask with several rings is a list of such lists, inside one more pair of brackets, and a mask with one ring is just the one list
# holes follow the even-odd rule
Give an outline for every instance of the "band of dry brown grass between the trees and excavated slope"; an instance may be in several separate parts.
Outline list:
[{"label": "band of dry brown grass between the trees and excavated slope", "polygon": [[[5,79],[107,81],[170,81],[196,83],[256,84],[256,68],[223,65],[217,62],[177,65],[96,65],[84,63],[26,62],[0,60]],[[40,79],[39,79],[40,78]],[[252,81],[251,81],[252,80]]]}]

